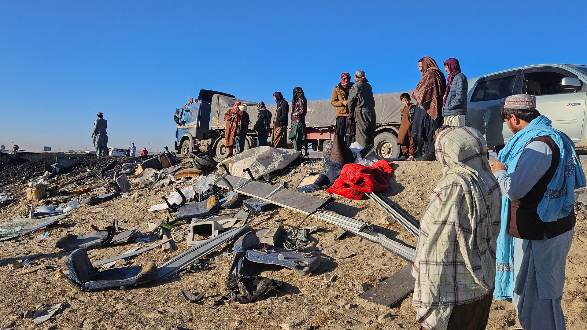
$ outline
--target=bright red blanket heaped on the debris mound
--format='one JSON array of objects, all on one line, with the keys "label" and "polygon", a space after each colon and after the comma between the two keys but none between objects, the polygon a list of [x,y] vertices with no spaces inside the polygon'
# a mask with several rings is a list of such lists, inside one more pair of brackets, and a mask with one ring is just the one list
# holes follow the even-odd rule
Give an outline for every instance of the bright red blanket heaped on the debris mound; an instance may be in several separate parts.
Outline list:
[{"label": "bright red blanket heaped on the debris mound", "polygon": [[338,194],[351,200],[360,200],[365,193],[378,193],[389,189],[389,178],[392,177],[393,163],[381,159],[373,166],[361,164],[345,164],[340,177],[334,181],[329,194]]}]

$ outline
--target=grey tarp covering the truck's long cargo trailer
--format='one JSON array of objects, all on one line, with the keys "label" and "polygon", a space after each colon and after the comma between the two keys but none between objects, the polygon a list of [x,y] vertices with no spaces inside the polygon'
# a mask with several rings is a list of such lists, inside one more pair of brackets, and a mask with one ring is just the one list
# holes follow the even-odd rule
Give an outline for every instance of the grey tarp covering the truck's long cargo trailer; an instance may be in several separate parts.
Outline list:
[{"label": "grey tarp covering the truck's long cargo trailer", "polygon": [[[377,123],[399,123],[400,115],[404,107],[400,100],[400,95],[403,92],[398,93],[385,93],[375,95],[375,115]],[[411,92],[407,92],[411,95]],[[234,99],[232,97],[215,94],[212,97],[212,124],[211,129],[226,127],[226,120],[223,119],[224,114],[228,109],[234,105],[235,102],[240,101],[241,103],[247,104],[247,113],[251,118],[251,124],[249,127],[254,126],[257,121],[257,103],[252,101],[246,101],[241,99]],[[274,101],[272,104],[267,104],[267,109],[275,118],[275,109],[277,105]],[[289,104],[289,115],[291,116],[291,100]],[[327,100],[315,100],[308,101],[308,114],[306,115],[306,126],[320,127],[320,126],[335,126],[336,119],[336,108],[330,103],[330,99]],[[291,119],[288,119],[288,123]],[[291,124],[291,123],[289,123]]]}]

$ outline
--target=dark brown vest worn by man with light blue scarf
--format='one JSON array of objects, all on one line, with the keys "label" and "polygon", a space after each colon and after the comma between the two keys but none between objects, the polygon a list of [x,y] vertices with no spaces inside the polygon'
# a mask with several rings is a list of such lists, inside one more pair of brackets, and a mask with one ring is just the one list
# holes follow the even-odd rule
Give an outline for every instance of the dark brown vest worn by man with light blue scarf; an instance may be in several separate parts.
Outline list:
[{"label": "dark brown vest worn by man with light blue scarf", "polygon": [[548,136],[539,136],[530,140],[529,143],[540,141],[546,143],[552,150],[552,162],[548,170],[526,194],[519,200],[512,200],[511,217],[508,224],[508,232],[511,237],[523,238],[524,240],[542,240],[544,233],[546,237],[552,238],[566,233],[575,227],[575,207],[571,208],[571,213],[564,218],[545,223],[540,220],[538,215],[538,204],[546,193],[546,187],[554,177],[556,167],[561,161],[561,150],[558,149],[554,140]]}]

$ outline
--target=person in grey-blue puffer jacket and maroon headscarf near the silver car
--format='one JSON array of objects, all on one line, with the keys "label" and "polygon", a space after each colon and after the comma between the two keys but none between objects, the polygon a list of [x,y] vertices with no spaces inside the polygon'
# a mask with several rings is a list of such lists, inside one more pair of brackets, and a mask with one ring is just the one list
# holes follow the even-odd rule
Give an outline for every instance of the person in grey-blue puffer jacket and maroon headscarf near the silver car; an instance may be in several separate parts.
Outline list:
[{"label": "person in grey-blue puffer jacket and maroon headscarf near the silver car", "polygon": [[444,124],[464,126],[467,115],[467,77],[461,72],[461,65],[455,58],[444,61],[444,71],[448,73],[442,110]]}]

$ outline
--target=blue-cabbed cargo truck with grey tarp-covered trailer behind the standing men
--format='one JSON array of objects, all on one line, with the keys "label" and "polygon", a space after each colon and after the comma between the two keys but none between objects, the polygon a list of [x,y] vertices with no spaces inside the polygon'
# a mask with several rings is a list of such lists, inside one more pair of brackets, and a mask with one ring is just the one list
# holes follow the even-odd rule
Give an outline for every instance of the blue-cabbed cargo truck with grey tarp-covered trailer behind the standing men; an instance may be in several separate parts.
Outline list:
[{"label": "blue-cabbed cargo truck with grey tarp-covered trailer behind the standing men", "polygon": [[[377,127],[374,144],[376,153],[382,157],[397,157],[400,154],[397,132],[404,106],[400,101],[401,94],[402,92],[375,95]],[[193,153],[207,151],[224,158],[227,149],[224,139],[226,121],[223,116],[236,101],[247,105],[247,112],[251,118],[245,150],[256,146],[257,134],[252,132],[258,113],[256,102],[237,99],[228,93],[202,89],[197,99],[190,99],[185,106],[176,109],[175,150],[178,156],[189,157]],[[275,104],[268,104],[267,109],[275,115]],[[291,114],[291,110],[289,113]],[[308,102],[306,152],[322,151],[325,143],[334,137],[335,119],[336,111],[330,99]]]}]

